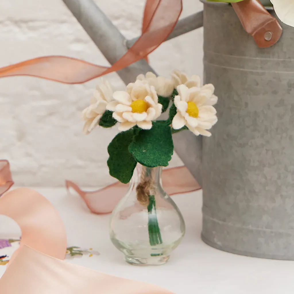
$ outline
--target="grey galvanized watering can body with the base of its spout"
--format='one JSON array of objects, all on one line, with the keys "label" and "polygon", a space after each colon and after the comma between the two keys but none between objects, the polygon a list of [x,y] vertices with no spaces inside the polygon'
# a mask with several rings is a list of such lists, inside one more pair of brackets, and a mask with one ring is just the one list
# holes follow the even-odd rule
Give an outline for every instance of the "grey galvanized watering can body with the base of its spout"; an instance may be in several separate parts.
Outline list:
[{"label": "grey galvanized watering can body with the base of its spout", "polygon": [[175,139],[203,188],[203,241],[294,260],[294,28],[281,25],[281,39],[260,49],[230,5],[204,4],[204,82],[219,121],[210,138]]}]

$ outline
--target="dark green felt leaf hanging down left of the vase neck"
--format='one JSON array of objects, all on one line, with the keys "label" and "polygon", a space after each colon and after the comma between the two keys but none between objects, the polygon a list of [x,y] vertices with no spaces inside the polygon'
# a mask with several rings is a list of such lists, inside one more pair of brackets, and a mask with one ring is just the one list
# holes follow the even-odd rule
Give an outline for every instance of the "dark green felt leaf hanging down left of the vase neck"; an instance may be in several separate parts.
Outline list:
[{"label": "dark green felt leaf hanging down left of the vase neck", "polygon": [[132,129],[118,133],[107,148],[109,174],[124,184],[131,180],[137,165],[136,160],[128,151],[128,146],[133,142],[133,139],[134,131]]}]

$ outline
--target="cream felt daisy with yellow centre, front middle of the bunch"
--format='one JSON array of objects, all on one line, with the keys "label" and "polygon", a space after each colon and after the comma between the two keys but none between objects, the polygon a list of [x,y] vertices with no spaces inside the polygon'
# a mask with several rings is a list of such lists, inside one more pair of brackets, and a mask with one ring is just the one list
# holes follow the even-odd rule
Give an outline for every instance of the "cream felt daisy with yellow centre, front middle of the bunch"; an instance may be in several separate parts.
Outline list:
[{"label": "cream felt daisy with yellow centre, front middle of the bunch", "polygon": [[113,111],[113,118],[120,124],[120,131],[127,131],[133,126],[149,130],[152,122],[161,115],[162,105],[158,103],[158,96],[154,86],[146,81],[137,80],[129,83],[126,91],[113,93],[114,101],[106,109]]}]

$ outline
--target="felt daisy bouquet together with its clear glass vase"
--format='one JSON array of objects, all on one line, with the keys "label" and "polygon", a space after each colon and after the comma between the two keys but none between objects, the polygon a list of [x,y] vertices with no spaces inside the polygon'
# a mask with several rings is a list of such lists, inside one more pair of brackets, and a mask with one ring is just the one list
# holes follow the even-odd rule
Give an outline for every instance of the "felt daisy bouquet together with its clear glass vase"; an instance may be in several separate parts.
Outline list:
[{"label": "felt daisy bouquet together with its clear glass vase", "polygon": [[213,92],[212,84],[201,86],[199,76],[174,71],[168,79],[148,72],[125,91],[101,83],[83,111],[86,134],[118,124],[120,133],[108,145],[109,173],[122,183],[133,180],[112,213],[110,238],[128,263],[165,263],[185,234],[183,217],[161,186],[161,167],[173,155],[173,133],[211,136],[208,130],[217,122]]}]

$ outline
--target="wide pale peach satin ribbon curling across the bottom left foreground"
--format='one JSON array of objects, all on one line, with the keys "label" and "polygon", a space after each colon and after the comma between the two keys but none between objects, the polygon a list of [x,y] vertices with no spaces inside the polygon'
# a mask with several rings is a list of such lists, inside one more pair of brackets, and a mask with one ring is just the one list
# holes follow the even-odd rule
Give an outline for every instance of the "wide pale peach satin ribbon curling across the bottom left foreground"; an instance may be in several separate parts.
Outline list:
[{"label": "wide pale peach satin ribbon curling across the bottom left foreground", "polygon": [[0,198],[0,214],[11,217],[22,231],[19,249],[0,279],[4,294],[171,294],[154,285],[117,278],[63,261],[64,225],[52,204],[28,188]]}]

